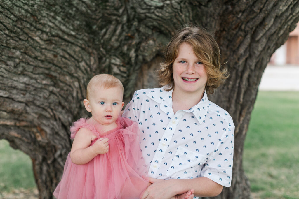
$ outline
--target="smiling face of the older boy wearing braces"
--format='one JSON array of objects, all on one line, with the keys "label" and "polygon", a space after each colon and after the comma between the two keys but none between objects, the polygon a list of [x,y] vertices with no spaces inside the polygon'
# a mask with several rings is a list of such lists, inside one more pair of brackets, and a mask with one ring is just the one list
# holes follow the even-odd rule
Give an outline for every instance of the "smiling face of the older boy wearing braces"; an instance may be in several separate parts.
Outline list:
[{"label": "smiling face of the older boy wearing braces", "polygon": [[203,94],[208,75],[205,65],[194,54],[192,46],[182,43],[179,47],[178,56],[173,62],[174,91],[180,94],[194,93]]}]

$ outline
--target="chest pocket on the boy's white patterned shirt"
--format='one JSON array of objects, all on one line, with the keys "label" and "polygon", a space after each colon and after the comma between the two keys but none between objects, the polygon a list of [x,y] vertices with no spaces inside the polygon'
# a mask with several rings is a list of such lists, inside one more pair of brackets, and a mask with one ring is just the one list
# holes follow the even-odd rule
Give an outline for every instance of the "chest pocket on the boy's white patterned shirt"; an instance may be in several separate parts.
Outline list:
[{"label": "chest pocket on the boy's white patterned shirt", "polygon": [[179,146],[166,175],[176,179],[190,178],[194,174],[195,168],[198,168],[207,161],[206,158],[205,155]]}]

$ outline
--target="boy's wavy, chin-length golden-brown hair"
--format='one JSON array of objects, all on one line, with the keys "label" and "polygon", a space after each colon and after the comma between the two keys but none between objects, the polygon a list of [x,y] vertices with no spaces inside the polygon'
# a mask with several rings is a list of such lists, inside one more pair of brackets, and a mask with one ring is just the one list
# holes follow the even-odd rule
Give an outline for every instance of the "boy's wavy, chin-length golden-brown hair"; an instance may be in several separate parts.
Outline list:
[{"label": "boy's wavy, chin-length golden-brown hair", "polygon": [[158,77],[162,86],[169,85],[169,90],[174,87],[172,65],[176,59],[180,45],[185,42],[193,48],[194,54],[205,65],[208,81],[205,86],[207,94],[213,94],[214,89],[224,83],[228,78],[227,69],[220,69],[220,50],[213,36],[206,30],[196,26],[188,26],[175,32],[161,62]]}]

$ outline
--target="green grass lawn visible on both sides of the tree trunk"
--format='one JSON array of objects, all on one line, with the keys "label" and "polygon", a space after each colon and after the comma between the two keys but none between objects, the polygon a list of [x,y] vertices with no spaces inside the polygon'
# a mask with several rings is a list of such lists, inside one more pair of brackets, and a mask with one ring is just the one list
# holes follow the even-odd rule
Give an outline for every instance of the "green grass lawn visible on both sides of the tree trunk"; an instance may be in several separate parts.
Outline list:
[{"label": "green grass lawn visible on both sides of the tree trunk", "polygon": [[[298,129],[299,92],[259,92],[243,155],[253,198],[299,198]],[[27,155],[0,140],[0,157],[0,193],[36,187]]]}]

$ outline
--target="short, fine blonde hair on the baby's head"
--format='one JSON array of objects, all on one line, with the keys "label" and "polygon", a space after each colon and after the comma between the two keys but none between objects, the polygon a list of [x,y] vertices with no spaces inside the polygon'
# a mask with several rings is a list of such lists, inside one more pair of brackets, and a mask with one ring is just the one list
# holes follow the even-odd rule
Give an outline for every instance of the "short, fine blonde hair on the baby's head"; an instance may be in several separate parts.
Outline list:
[{"label": "short, fine blonde hair on the baby's head", "polygon": [[105,89],[119,87],[123,95],[123,84],[113,75],[100,74],[91,78],[86,89],[86,99],[89,99],[93,92],[102,92],[95,90],[95,86],[102,86]]}]

